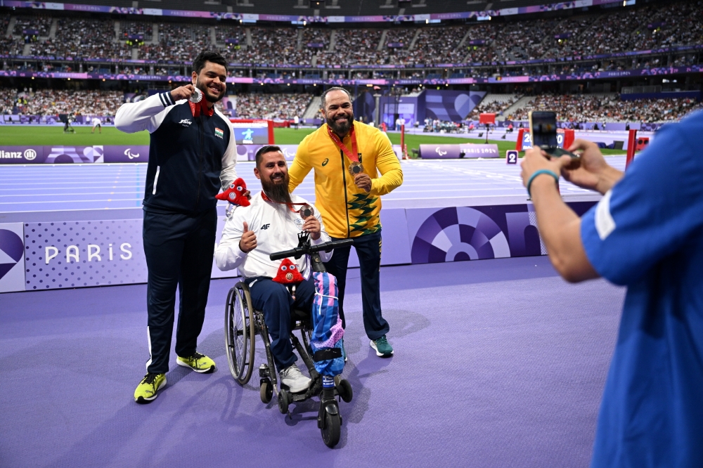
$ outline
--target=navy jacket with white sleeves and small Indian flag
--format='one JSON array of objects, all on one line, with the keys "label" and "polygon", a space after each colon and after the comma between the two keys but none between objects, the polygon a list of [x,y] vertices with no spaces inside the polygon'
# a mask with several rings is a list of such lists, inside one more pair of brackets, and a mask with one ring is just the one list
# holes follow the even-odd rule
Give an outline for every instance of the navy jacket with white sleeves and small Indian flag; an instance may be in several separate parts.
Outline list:
[{"label": "navy jacket with white sleeves and small Indian flag", "polygon": [[149,163],[144,209],[200,214],[217,204],[214,196],[237,178],[237,147],[229,120],[215,110],[193,117],[187,100],[170,92],[123,104],[117,129],[148,130]]}]

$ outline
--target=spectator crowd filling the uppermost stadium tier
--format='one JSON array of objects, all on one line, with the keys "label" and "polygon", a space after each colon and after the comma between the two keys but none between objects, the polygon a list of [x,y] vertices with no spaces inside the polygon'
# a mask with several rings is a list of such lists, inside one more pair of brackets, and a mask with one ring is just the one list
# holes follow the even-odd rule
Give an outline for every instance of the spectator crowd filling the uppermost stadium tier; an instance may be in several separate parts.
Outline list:
[{"label": "spectator crowd filling the uppermost stadium tier", "polygon": [[[7,29],[9,18],[0,18],[0,28]],[[145,44],[137,53],[141,60],[187,62],[204,48],[218,48],[233,63],[306,66],[489,63],[703,44],[702,0],[627,8],[605,15],[449,27],[386,27],[385,34],[381,28],[340,28],[333,34],[317,27],[301,30],[160,22],[156,41],[152,40],[151,22],[120,20],[120,33],[115,34],[112,20],[57,18],[56,37],[49,39],[51,16],[17,16],[13,37],[0,39],[0,54],[21,53],[29,41],[22,35],[26,30],[38,32],[37,44],[32,45],[34,56],[131,58],[131,47],[124,39],[129,34],[142,34]],[[227,39],[238,43],[226,44]],[[331,51],[330,42],[334,42]]]}]

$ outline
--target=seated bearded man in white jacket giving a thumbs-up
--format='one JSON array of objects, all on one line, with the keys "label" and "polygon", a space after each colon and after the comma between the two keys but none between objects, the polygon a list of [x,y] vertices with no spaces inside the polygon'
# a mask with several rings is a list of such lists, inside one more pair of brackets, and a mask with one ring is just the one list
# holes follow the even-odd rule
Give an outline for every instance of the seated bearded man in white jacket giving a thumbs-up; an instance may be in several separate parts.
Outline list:
[{"label": "seated bearded man in white jacket giving a thumbs-up", "polygon": [[[249,285],[254,308],[264,311],[264,321],[271,335],[271,353],[280,373],[280,382],[293,393],[304,391],[310,379],[295,365],[297,357],[290,343],[290,309],[311,311],[315,285],[310,279],[307,257],[291,258],[304,280],[297,285],[295,299],[286,287],[271,278],[276,277],[280,261],[272,261],[273,252],[297,247],[297,235],[310,233],[312,244],[329,242],[322,217],[315,207],[288,192],[288,164],[278,146],[264,146],[257,151],[254,175],[262,181],[262,192],[254,195],[248,207],[236,207],[222,232],[215,249],[219,269],[239,268]],[[309,207],[313,213],[303,217]],[[331,253],[320,252],[322,261]]]}]

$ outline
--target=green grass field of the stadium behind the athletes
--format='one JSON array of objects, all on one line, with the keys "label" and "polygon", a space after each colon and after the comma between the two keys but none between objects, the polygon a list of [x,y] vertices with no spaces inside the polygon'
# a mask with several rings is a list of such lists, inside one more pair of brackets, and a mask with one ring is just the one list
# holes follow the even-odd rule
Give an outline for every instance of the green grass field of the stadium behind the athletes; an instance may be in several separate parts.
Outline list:
[{"label": "green grass field of the stadium behind the athletes", "polygon": [[[103,127],[103,133],[91,134],[89,126],[75,126],[75,134],[63,133],[63,126],[0,126],[0,144],[2,145],[148,145],[149,134],[146,131],[140,131],[136,134],[125,134],[122,131],[115,129],[114,126]],[[310,134],[314,129],[274,129],[273,138],[280,145],[297,145],[305,136]],[[394,145],[400,144],[400,134],[389,133],[388,137]],[[485,141],[478,138],[457,138],[455,136],[439,136],[439,135],[411,135],[406,134],[406,144],[408,145],[408,154],[412,155],[412,149],[418,148],[420,144],[432,143],[484,143]],[[506,150],[515,149],[515,142],[502,140],[489,140],[489,143],[498,145],[498,152],[501,156],[505,155]],[[621,150],[602,150],[606,155],[623,154]]]}]

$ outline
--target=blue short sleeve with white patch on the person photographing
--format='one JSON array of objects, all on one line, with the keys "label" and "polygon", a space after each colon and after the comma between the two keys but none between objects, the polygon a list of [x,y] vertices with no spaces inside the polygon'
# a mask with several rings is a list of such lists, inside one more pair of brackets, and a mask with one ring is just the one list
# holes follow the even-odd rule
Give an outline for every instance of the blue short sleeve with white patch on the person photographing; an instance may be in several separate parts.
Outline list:
[{"label": "blue short sleeve with white patch on the person photographing", "polygon": [[595,271],[636,282],[703,229],[703,112],[665,126],[625,176],[581,219]]}]

